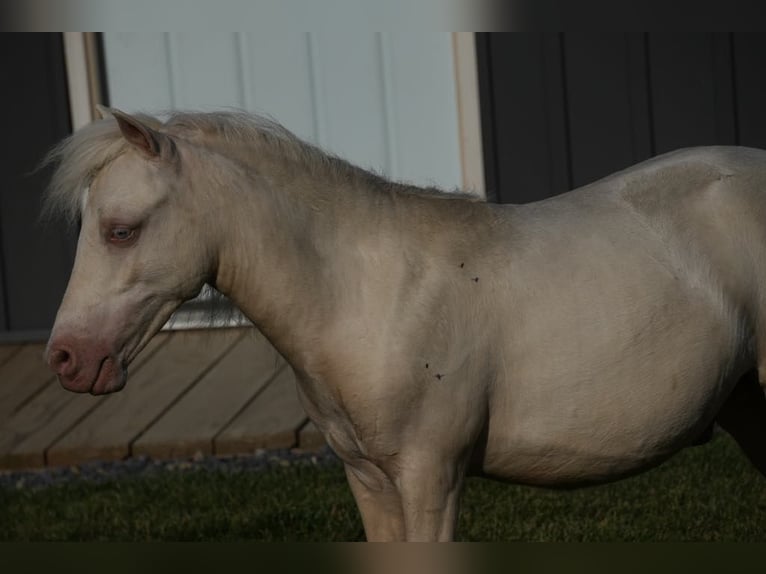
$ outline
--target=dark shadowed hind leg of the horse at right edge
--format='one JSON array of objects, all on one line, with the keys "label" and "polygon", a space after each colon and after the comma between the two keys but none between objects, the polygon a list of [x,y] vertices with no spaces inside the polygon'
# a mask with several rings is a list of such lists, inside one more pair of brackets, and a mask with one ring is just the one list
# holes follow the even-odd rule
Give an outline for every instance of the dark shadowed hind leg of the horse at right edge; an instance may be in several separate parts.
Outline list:
[{"label": "dark shadowed hind leg of the horse at right edge", "polygon": [[766,476],[766,396],[757,371],[742,376],[721,407],[716,421]]}]

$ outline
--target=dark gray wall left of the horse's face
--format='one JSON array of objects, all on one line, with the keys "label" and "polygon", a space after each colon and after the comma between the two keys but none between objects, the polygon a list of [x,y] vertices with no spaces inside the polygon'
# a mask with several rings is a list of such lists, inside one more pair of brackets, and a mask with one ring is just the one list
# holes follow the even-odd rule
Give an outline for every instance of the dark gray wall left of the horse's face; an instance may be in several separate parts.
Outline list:
[{"label": "dark gray wall left of the horse's face", "polygon": [[50,173],[34,172],[70,130],[60,34],[0,34],[0,246],[5,331],[50,328],[66,287],[74,234],[39,222]]}]

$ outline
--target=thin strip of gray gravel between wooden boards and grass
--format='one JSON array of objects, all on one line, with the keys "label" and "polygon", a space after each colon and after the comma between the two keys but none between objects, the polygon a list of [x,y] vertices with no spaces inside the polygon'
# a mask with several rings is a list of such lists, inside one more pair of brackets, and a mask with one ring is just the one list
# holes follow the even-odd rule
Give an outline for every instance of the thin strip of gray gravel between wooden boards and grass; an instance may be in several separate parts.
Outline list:
[{"label": "thin strip of gray gravel between wooden boards and grass", "polygon": [[169,472],[220,471],[257,472],[293,464],[339,464],[328,447],[312,453],[293,450],[259,450],[250,456],[195,456],[157,460],[145,456],[122,461],[96,461],[60,468],[29,471],[0,471],[0,489],[46,488],[71,482],[103,483],[119,478],[140,478]]}]

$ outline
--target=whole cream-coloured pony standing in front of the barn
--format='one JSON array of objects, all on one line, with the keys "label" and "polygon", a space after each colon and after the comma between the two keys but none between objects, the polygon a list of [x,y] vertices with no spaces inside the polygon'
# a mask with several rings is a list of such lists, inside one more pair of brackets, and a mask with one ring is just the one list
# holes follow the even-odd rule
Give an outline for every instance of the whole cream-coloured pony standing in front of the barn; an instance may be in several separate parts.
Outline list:
[{"label": "whole cream-coloured pony standing in front of the barn", "polygon": [[61,384],[122,389],[213,285],[294,369],[369,540],[451,539],[467,474],[616,480],[715,423],[766,471],[764,151],[529,205],[390,182],[235,112],[111,110],[51,158],[48,209],[81,221]]}]

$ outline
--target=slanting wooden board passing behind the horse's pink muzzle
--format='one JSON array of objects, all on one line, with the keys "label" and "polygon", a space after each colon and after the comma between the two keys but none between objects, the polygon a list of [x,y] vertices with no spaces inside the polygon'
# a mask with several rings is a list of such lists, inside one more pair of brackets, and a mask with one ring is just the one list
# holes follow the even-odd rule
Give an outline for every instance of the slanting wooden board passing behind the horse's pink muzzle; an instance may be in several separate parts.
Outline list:
[{"label": "slanting wooden board passing behind the horse's pink muzzle", "polygon": [[[155,337],[136,358],[132,371],[140,372],[143,363],[166,341],[164,334]],[[46,449],[113,396],[72,393],[51,379],[31,401],[0,419],[0,467],[44,466]]]}]

